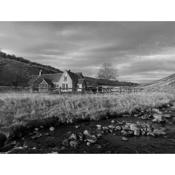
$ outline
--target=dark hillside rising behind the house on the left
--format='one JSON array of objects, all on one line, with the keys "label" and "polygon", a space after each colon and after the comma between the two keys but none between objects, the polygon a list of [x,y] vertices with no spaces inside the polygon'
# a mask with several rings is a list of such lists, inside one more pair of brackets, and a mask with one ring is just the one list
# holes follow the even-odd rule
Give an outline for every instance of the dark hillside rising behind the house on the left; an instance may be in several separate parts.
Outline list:
[{"label": "dark hillside rising behind the house on the left", "polygon": [[0,51],[0,86],[28,86],[32,75],[59,73],[59,69],[31,62],[22,57],[8,55]]}]

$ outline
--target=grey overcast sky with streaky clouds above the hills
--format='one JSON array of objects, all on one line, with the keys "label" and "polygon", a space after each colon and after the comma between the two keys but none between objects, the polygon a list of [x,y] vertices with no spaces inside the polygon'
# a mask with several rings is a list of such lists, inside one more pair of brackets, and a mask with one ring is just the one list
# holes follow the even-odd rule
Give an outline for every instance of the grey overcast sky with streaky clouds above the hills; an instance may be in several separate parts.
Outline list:
[{"label": "grey overcast sky with streaky clouds above the hills", "polygon": [[89,76],[110,62],[147,82],[175,73],[175,22],[0,22],[0,48]]}]

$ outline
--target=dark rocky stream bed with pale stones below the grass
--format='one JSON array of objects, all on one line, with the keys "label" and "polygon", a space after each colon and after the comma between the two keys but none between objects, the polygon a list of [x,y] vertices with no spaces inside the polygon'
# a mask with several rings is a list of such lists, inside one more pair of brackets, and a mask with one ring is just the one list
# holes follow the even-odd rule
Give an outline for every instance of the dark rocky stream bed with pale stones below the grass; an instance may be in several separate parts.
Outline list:
[{"label": "dark rocky stream bed with pale stones below the grass", "polygon": [[94,121],[35,127],[2,153],[175,153],[175,104]]}]

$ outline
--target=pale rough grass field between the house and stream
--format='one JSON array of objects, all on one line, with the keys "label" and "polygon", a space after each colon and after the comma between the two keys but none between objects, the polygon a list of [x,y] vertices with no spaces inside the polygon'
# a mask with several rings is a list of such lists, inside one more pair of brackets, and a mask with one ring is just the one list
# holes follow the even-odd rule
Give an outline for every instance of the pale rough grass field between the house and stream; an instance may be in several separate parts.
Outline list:
[{"label": "pale rough grass field between the house and stream", "polygon": [[158,107],[175,99],[169,93],[47,95],[30,93],[0,94],[0,124],[10,126],[34,119],[58,117],[60,122],[76,119],[98,120],[110,114]]}]

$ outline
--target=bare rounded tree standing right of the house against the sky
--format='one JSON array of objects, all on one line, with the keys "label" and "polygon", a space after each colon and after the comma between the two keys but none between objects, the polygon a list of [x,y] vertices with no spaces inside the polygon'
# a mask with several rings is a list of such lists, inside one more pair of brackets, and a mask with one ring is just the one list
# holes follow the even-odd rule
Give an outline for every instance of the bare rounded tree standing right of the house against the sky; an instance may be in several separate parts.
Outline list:
[{"label": "bare rounded tree standing right of the house against the sky", "polygon": [[100,79],[117,80],[118,71],[110,63],[104,63],[97,73]]}]

